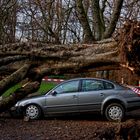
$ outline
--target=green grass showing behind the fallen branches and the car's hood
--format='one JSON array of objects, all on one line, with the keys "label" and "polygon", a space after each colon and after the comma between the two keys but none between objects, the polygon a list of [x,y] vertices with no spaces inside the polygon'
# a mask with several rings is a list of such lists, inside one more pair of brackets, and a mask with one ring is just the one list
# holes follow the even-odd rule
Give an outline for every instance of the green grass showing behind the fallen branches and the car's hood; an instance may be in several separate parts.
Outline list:
[{"label": "green grass showing behind the fallen branches and the car's hood", "polygon": [[[52,89],[55,85],[56,85],[56,83],[42,82],[40,85],[40,88],[37,92],[39,92],[40,94],[44,94],[47,91],[49,91],[50,89]],[[17,84],[15,86],[11,87],[10,89],[8,89],[2,96],[8,97],[10,94],[12,94],[14,91],[16,91],[16,89],[18,89],[20,87],[21,87],[21,85]]]}]

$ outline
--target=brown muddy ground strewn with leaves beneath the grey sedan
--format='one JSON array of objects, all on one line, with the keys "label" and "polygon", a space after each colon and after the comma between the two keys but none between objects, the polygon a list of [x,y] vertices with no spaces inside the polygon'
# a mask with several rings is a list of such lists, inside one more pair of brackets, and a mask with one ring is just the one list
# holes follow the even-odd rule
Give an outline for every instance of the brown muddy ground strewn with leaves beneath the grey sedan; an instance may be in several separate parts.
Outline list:
[{"label": "brown muddy ground strewn with leaves beneath the grey sedan", "polygon": [[140,110],[129,113],[122,123],[97,114],[34,121],[0,115],[0,140],[139,140],[139,128]]}]

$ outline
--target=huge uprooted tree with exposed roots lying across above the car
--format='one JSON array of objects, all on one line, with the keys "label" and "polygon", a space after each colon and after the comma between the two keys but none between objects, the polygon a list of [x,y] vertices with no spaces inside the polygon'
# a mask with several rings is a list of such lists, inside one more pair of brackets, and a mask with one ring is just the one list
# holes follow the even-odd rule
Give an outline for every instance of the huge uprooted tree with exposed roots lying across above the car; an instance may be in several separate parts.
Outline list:
[{"label": "huge uprooted tree with exposed roots lying across above the car", "polygon": [[0,101],[0,113],[37,91],[45,75],[82,73],[125,67],[140,76],[140,22],[129,21],[120,39],[94,44],[49,45],[15,43],[0,46],[0,96],[17,83],[22,86]]}]

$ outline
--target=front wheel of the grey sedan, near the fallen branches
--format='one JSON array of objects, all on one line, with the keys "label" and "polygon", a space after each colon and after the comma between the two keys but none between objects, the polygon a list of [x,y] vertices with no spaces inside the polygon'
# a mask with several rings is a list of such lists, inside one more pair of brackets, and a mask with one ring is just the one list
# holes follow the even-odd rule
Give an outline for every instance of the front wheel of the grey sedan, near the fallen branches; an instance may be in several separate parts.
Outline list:
[{"label": "front wheel of the grey sedan, near the fallen branches", "polygon": [[30,104],[25,108],[25,116],[31,120],[39,119],[41,117],[41,109],[38,105]]}]

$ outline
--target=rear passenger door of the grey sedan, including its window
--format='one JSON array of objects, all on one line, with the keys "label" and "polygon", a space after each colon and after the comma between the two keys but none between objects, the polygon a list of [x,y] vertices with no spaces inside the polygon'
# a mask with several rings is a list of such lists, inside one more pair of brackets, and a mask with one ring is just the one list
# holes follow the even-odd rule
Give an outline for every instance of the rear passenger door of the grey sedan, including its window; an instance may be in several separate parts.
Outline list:
[{"label": "rear passenger door of the grey sedan, including its window", "polygon": [[102,81],[82,80],[81,92],[79,92],[78,108],[80,112],[99,111],[105,98],[105,90]]}]

